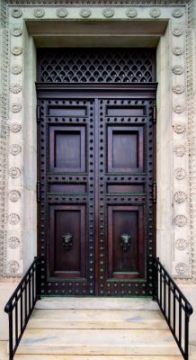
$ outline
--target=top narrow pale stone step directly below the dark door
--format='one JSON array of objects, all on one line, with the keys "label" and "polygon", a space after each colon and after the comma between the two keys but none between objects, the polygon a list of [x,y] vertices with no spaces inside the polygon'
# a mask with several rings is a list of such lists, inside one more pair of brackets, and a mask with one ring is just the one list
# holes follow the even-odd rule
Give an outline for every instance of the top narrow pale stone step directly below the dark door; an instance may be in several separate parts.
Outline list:
[{"label": "top narrow pale stone step directly below the dark door", "polygon": [[158,310],[151,298],[51,297],[36,302],[36,309]]}]

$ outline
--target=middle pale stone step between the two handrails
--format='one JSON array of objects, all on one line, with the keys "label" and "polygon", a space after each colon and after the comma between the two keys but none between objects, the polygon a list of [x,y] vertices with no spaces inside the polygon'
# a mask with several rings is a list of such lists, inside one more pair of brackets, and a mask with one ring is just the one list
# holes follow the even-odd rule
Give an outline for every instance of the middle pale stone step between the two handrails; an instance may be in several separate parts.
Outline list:
[{"label": "middle pale stone step between the two handrails", "polygon": [[168,329],[160,311],[34,310],[28,329]]}]

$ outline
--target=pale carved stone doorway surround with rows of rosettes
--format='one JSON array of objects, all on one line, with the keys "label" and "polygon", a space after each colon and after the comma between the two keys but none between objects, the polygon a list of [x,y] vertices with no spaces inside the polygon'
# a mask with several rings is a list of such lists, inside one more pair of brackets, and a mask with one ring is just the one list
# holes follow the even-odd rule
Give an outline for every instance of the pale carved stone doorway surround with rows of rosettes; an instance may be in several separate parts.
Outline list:
[{"label": "pale carved stone doorway surround with rows of rosettes", "polygon": [[37,253],[36,47],[149,46],[158,82],[157,256],[194,307],[195,0],[2,0],[1,16],[2,304]]}]

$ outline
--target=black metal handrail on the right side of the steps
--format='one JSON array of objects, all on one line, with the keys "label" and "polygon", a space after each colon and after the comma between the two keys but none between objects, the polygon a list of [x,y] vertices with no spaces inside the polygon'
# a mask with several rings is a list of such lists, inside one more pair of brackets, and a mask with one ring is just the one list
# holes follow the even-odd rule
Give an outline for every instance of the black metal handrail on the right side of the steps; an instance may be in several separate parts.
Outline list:
[{"label": "black metal handrail on the right side of the steps", "polygon": [[155,260],[154,300],[159,305],[184,360],[189,359],[189,320],[192,305],[174,279],[167,273],[159,258]]}]

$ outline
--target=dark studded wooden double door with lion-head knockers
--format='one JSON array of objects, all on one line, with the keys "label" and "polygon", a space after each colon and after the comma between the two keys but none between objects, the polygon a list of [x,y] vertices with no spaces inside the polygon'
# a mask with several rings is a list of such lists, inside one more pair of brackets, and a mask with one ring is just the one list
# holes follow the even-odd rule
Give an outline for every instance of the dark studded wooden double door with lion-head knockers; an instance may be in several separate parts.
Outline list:
[{"label": "dark studded wooden double door with lion-head knockers", "polygon": [[155,86],[37,88],[42,294],[152,293]]}]

